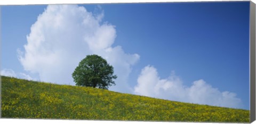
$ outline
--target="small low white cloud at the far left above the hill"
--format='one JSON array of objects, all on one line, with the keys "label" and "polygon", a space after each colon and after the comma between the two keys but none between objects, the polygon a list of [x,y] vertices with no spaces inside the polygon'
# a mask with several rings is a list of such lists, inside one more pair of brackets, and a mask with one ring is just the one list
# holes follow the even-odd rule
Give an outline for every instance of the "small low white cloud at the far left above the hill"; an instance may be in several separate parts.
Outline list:
[{"label": "small low white cloud at the far left above the hill", "polygon": [[9,76],[9,77],[16,77],[16,78],[21,78],[21,79],[28,79],[28,80],[35,80],[31,76],[25,74],[25,73],[15,73],[14,70],[12,69],[2,69],[1,70],[1,75],[2,76]]}]

